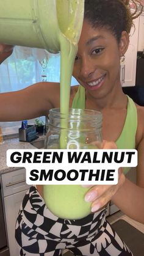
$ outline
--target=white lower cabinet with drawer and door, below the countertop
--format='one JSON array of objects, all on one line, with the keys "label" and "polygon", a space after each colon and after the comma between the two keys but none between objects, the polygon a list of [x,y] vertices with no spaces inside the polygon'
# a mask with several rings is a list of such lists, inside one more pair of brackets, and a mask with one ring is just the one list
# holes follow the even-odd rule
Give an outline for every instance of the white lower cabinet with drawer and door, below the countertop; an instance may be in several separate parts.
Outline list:
[{"label": "white lower cabinet with drawer and door, below the countertop", "polygon": [[19,255],[15,241],[15,222],[28,188],[29,185],[26,184],[26,170],[24,168],[2,174],[2,192],[10,256]]}]

